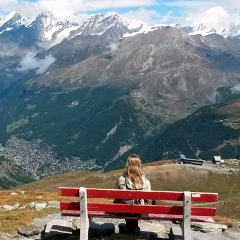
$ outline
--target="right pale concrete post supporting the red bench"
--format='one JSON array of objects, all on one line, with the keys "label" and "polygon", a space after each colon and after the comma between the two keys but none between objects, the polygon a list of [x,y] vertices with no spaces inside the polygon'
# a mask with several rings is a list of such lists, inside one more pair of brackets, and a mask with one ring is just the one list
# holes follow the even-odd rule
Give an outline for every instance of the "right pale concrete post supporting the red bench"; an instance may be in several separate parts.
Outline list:
[{"label": "right pale concrete post supporting the red bench", "polygon": [[180,224],[184,240],[191,240],[191,193],[183,193],[183,222]]}]

